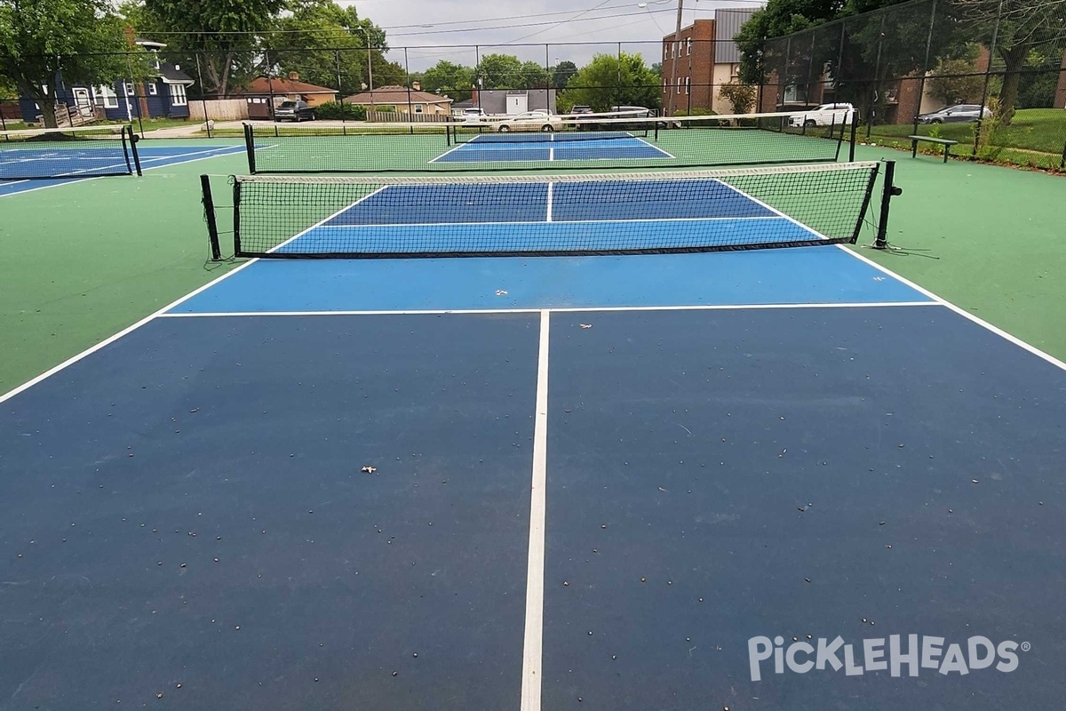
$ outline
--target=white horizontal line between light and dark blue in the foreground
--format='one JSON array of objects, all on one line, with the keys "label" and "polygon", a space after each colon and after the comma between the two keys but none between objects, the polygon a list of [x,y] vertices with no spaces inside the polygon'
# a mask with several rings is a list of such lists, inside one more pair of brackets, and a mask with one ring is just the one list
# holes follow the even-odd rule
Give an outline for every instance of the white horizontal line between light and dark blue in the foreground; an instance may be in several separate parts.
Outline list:
[{"label": "white horizontal line between light and dark blue in the foreground", "polygon": [[478,313],[552,313],[600,312],[600,311],[730,311],[745,309],[803,309],[803,308],[891,308],[894,306],[939,306],[927,302],[827,302],[824,304],[691,304],[684,306],[552,306],[540,308],[483,308],[483,309],[404,309],[388,310],[338,310],[338,311],[175,311],[161,313],[161,319],[228,319],[244,317],[309,317],[309,316],[470,316]]}]

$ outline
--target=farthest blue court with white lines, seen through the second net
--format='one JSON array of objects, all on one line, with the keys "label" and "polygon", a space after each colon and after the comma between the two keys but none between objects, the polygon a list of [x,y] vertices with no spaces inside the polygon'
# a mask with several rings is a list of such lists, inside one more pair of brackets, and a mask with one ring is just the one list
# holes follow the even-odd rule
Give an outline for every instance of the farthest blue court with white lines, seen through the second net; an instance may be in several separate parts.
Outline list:
[{"label": "farthest blue court with white lines, seen through the second net", "polygon": [[644,139],[623,133],[483,133],[431,163],[593,161],[674,158]]}]

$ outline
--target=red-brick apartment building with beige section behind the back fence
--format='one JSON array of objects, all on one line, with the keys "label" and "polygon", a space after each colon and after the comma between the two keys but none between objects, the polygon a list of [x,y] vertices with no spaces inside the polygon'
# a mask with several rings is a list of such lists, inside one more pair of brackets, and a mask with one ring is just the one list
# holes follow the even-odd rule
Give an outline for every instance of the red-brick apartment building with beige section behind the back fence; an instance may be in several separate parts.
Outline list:
[{"label": "red-brick apartment building with beige section behind the back fence", "polygon": [[[733,36],[756,9],[715,10],[714,19],[699,19],[680,34],[663,37],[662,106],[668,113],[714,111],[733,113],[732,104],[720,94],[723,84],[734,81],[740,68],[740,50]],[[677,80],[672,82],[674,64]]]}]

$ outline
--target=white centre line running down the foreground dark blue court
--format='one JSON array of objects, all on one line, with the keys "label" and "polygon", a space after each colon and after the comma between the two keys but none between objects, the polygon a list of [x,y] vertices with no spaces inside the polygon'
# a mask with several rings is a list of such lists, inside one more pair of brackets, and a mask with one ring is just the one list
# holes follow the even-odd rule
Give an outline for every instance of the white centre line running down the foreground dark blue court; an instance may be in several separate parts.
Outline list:
[{"label": "white centre line running down the foreground dark blue court", "polygon": [[548,483],[548,334],[551,312],[540,311],[536,409],[533,421],[533,475],[530,490],[530,547],[526,573],[526,636],[522,644],[520,711],[540,711],[544,660],[544,540]]}]

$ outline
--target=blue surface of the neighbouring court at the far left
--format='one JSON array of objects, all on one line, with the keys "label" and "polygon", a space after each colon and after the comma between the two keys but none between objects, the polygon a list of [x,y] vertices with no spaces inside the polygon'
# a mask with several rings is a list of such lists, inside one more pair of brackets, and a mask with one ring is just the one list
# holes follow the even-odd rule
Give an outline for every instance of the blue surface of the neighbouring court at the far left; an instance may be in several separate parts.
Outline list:
[{"label": "blue surface of the neighbouring court at the far left", "polygon": [[[138,143],[138,153],[141,157],[141,167],[142,169],[149,171],[157,167],[165,167],[167,165],[176,165],[178,163],[188,163],[196,160],[204,160],[207,158],[215,158],[217,156],[233,156],[244,152],[244,146],[208,146],[203,145],[189,145],[179,146],[172,144],[164,145],[151,145],[150,142],[141,141]],[[11,153],[18,153],[17,159]],[[0,151],[0,177],[3,174],[3,162],[18,160],[19,162],[26,161],[39,161],[42,163],[54,163],[58,158],[62,157],[64,165],[62,169],[70,171],[70,164],[68,161],[72,162],[76,167],[71,173],[100,173],[102,171],[110,169],[123,169],[126,166],[126,161],[119,151],[111,157],[104,157],[100,155],[99,150],[72,150],[70,148],[64,148],[63,150],[55,150],[50,148],[41,148],[33,146],[31,148],[18,148],[18,149],[4,149]],[[130,159],[132,161],[132,158]],[[25,175],[25,173],[23,173]],[[129,176],[111,176],[108,179],[122,179],[128,178]],[[42,188],[52,188],[55,185],[62,185],[69,182],[77,182],[79,180],[90,180],[92,178],[79,178],[79,177],[68,177],[68,178],[55,178],[46,180],[3,180],[0,179],[0,197],[5,195],[14,195],[15,193],[25,193],[32,190],[41,190]]]}]

